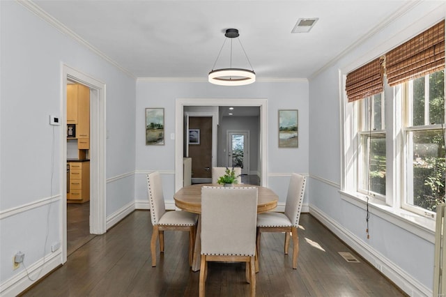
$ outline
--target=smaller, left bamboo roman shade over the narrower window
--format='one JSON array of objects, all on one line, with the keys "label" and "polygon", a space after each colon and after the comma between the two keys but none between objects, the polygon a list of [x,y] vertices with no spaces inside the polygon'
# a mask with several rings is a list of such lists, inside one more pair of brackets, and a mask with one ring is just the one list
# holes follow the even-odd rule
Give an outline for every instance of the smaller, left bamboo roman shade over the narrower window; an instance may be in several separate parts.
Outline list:
[{"label": "smaller, left bamboo roman shade over the narrower window", "polygon": [[383,91],[383,58],[375,59],[348,73],[346,92],[348,102],[353,102]]}]

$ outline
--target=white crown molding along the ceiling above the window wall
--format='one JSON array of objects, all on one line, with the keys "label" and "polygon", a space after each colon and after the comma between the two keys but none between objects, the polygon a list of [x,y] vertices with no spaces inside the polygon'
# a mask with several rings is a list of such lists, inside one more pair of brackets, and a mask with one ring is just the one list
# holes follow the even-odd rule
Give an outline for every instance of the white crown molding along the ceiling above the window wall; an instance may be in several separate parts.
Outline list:
[{"label": "white crown molding along the ceiling above the window wall", "polygon": [[362,43],[365,43],[367,40],[369,40],[372,36],[374,36],[376,33],[382,31],[385,27],[389,26],[389,24],[392,24],[394,20],[397,20],[401,15],[406,14],[409,10],[412,10],[415,6],[422,3],[422,0],[416,0],[416,1],[407,1],[399,10],[397,10],[395,13],[390,15],[389,17],[386,17],[385,20],[382,22],[379,22],[378,25],[374,26],[367,34],[364,34],[361,38],[357,39],[354,43],[352,43],[350,46],[346,47],[344,51],[342,51],[340,54],[335,56],[332,60],[330,60],[328,63],[326,63],[322,68],[319,68],[316,70],[312,75],[309,76],[309,79],[313,79],[320,73],[323,73],[323,71],[327,70],[331,66],[333,66],[337,61],[342,59],[344,56],[346,56],[348,53],[350,53],[352,50],[354,50],[356,47],[359,47],[362,45]]}]

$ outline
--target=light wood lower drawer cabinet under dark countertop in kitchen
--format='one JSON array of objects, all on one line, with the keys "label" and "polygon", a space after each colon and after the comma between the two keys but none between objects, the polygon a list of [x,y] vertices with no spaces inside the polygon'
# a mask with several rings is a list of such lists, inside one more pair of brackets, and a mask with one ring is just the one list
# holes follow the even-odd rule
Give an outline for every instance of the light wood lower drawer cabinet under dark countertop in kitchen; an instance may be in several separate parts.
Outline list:
[{"label": "light wood lower drawer cabinet under dark countertop in kitchen", "polygon": [[70,192],[68,202],[82,203],[90,200],[90,162],[68,162],[70,165]]}]

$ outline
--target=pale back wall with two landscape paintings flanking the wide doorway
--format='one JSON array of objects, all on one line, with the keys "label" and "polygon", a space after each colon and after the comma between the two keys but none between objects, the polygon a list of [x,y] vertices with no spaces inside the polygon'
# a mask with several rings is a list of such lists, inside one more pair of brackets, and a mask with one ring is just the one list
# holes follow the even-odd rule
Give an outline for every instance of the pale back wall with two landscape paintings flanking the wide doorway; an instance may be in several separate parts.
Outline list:
[{"label": "pale back wall with two landscape paintings flanking the wide doorway", "polygon": [[[160,171],[167,206],[174,206],[175,192],[175,132],[176,98],[267,98],[268,100],[268,186],[284,203],[289,174],[308,172],[308,83],[256,82],[247,86],[215,86],[208,82],[153,82],[137,80],[137,147],[135,199],[141,208],[148,208],[146,173]],[[144,142],[144,110],[164,107],[166,142],[164,146],[146,146]],[[299,148],[278,148],[277,110],[299,109]],[[181,119],[180,119],[181,120]],[[162,156],[162,158],[160,158]],[[285,187],[284,187],[285,185]],[[307,203],[307,201],[305,201]]]}]

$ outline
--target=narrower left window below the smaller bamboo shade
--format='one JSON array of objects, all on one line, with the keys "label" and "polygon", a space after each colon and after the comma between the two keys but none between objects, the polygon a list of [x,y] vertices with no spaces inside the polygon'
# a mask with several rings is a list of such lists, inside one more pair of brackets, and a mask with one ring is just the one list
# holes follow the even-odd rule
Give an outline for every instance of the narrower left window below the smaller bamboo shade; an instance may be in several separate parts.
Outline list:
[{"label": "narrower left window below the smaller bamboo shade", "polygon": [[357,101],[357,191],[385,199],[386,145],[383,93]]}]

